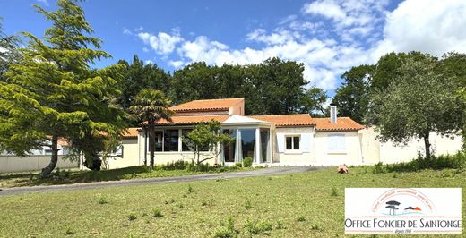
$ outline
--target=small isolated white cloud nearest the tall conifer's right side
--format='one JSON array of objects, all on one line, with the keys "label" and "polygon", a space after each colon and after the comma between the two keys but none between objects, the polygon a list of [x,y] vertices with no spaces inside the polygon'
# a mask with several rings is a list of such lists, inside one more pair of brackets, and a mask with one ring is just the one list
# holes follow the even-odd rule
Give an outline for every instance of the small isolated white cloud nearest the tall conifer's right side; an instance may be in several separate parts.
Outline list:
[{"label": "small isolated white cloud nearest the tall conifer's right side", "polygon": [[139,32],[138,38],[142,39],[144,44],[151,46],[151,48],[160,55],[168,55],[175,49],[177,43],[183,41],[177,32],[169,35],[165,32],[159,32],[157,35],[152,35],[148,32]]}]

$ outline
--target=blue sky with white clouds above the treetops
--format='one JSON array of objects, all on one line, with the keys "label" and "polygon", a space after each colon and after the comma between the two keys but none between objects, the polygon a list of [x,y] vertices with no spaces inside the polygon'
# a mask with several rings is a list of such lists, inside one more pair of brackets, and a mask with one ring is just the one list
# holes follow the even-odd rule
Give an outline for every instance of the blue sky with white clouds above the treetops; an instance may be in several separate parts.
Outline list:
[{"label": "blue sky with white clouds above the treetops", "polygon": [[[340,75],[374,64],[388,52],[465,52],[466,1],[99,1],[82,3],[87,20],[113,55],[102,67],[134,54],[169,72],[195,61],[258,63],[271,56],[305,64],[309,85],[329,91]],[[32,4],[0,0],[4,31],[42,36],[50,22]]]}]

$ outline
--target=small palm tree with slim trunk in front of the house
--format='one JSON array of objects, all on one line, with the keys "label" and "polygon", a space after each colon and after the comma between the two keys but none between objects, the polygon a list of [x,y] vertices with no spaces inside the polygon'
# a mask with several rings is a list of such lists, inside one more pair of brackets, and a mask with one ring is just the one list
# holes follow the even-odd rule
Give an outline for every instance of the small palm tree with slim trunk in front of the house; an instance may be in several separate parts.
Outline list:
[{"label": "small palm tree with slim trunk in front of the house", "polygon": [[165,94],[156,89],[142,89],[129,109],[132,116],[144,123],[149,131],[149,150],[151,151],[151,168],[154,168],[154,150],[155,150],[155,123],[160,119],[171,122],[171,115],[174,114],[168,107],[171,102],[165,97]]}]

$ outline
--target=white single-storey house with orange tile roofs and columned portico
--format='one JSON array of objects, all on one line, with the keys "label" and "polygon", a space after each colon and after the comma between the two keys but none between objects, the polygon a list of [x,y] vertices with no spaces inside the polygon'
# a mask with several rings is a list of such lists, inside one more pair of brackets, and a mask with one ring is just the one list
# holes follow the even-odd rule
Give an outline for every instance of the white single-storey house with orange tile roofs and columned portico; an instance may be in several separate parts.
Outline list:
[{"label": "white single-storey house with orange tile roofs and columned portico", "polygon": [[[205,151],[209,164],[231,165],[252,157],[255,165],[335,166],[361,164],[362,149],[358,131],[365,129],[349,117],[312,118],[310,115],[245,115],[244,98],[195,100],[172,106],[172,122],[156,124],[156,164],[189,160],[193,152],[181,137],[195,124],[219,121],[221,132],[236,139],[219,150]],[[130,128],[123,141],[123,157],[110,168],[143,165],[148,162],[148,137],[142,128]]]}]

